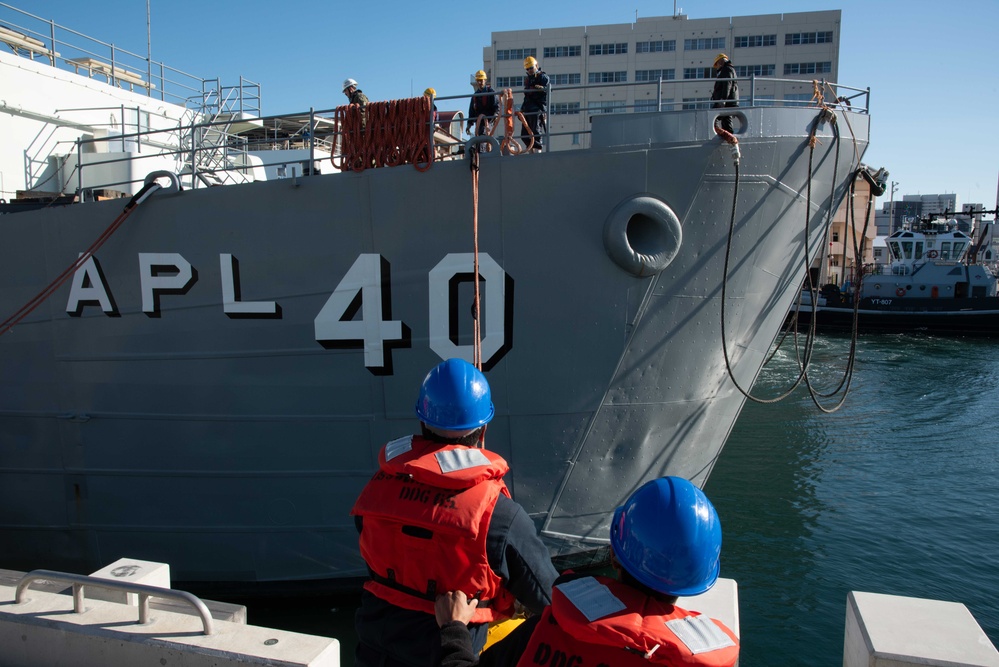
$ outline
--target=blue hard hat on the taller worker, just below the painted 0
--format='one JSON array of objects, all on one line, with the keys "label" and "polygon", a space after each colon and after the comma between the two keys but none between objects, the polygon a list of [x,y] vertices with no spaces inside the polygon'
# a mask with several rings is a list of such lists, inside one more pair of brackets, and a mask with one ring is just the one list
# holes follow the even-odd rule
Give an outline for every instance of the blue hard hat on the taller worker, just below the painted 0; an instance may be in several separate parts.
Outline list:
[{"label": "blue hard hat on the taller worker, just below the painted 0", "polygon": [[494,413],[486,376],[463,359],[437,364],[420,385],[416,416],[427,426],[465,431],[489,423]]}]

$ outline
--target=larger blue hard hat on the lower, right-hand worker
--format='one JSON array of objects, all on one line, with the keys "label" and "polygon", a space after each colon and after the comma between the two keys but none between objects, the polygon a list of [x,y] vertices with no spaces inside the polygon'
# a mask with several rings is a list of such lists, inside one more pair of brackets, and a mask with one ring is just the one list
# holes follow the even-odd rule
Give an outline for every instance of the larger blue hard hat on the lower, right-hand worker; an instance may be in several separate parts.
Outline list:
[{"label": "larger blue hard hat on the lower, right-hand worker", "polygon": [[611,547],[628,574],[652,590],[697,595],[718,579],[721,521],[689,481],[654,479],[615,510]]}]

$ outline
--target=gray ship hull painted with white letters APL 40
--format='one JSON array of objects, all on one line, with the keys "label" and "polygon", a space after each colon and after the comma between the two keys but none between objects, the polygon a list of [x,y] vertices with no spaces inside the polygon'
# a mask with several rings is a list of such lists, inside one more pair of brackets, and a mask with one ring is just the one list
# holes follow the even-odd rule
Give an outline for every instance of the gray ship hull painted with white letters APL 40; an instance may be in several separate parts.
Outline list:
[{"label": "gray ship hull painted with white letters APL 40", "polygon": [[[724,309],[749,388],[868,117],[851,114],[857,150],[821,125],[810,175],[817,110],[742,111]],[[553,555],[605,544],[613,508],[650,478],[703,485],[745,400],[722,353],[736,177],[712,117],[597,116],[592,148],[482,160],[487,446]],[[604,241],[635,201],[682,230],[648,276]],[[0,313],[121,208],[4,216]],[[363,575],[349,511],[378,449],[418,428],[427,370],[470,354],[472,210],[468,161],[151,196],[86,276],[0,336],[0,567],[130,556],[179,581]],[[636,244],[646,224],[628,223]]]}]

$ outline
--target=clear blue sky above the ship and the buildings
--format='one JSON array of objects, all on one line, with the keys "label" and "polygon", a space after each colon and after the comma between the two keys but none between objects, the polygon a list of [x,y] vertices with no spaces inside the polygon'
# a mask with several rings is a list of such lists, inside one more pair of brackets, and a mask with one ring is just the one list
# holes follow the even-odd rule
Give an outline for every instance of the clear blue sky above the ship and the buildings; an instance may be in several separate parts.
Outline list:
[{"label": "clear blue sky above the ship and the buildings", "polygon": [[[7,2],[146,53],[145,0]],[[348,76],[373,100],[409,97],[428,86],[439,96],[465,94],[494,30],[629,23],[636,11],[640,17],[673,13],[672,2],[651,0],[150,0],[150,6],[154,60],[227,85],[240,75],[259,83],[265,114],[337,106]],[[899,196],[957,193],[961,203],[995,206],[996,0],[719,0],[677,6],[692,19],[842,10],[838,83],[872,91],[865,162],[886,167],[899,183]],[[446,101],[440,107],[460,108]]]}]

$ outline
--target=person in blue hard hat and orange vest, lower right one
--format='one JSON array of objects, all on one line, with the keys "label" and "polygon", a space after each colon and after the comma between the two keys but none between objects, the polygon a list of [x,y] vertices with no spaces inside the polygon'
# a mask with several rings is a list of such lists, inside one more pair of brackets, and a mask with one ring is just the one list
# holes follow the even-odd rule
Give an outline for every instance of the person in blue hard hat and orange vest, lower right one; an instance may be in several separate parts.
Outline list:
[{"label": "person in blue hard hat and orange vest, lower right one", "polygon": [[721,621],[677,607],[718,578],[721,524],[711,502],[680,477],[647,482],[614,513],[611,557],[618,579],[567,575],[540,617],[521,623],[481,656],[465,621],[476,601],[461,591],[437,600],[442,667],[727,667],[739,641]]}]

